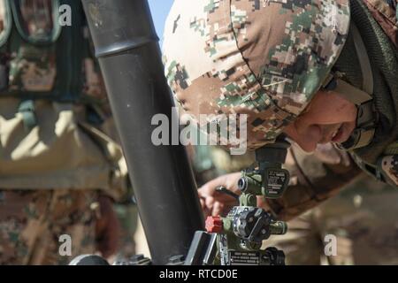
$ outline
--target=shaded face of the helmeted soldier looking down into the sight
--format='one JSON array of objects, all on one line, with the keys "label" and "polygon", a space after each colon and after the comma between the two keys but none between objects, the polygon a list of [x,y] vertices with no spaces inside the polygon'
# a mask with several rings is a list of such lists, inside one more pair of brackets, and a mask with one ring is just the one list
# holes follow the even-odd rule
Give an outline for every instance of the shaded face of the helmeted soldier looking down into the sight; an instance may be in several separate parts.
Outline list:
[{"label": "shaded face of the helmeted soldier looking down into the sight", "polygon": [[348,140],[356,127],[356,105],[333,91],[319,91],[285,133],[305,151],[318,143],[341,143]]}]

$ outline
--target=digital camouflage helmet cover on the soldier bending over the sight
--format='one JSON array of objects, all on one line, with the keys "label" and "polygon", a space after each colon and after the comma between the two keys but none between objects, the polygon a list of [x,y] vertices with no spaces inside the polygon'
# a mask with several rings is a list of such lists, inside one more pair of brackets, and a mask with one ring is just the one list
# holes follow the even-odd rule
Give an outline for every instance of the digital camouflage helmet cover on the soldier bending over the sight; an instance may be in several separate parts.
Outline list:
[{"label": "digital camouflage helmet cover on the soldier bending over the sight", "polygon": [[248,147],[255,149],[304,110],[348,26],[348,0],[175,0],[165,75],[196,118],[248,114]]}]

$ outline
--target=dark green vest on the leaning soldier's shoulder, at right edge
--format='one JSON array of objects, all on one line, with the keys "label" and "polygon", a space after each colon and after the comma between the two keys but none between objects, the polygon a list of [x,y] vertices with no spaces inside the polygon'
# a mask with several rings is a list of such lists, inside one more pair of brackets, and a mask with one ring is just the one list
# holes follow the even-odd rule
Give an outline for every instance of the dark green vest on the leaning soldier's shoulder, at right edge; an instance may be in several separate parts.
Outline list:
[{"label": "dark green vest on the leaning soldier's shoulder, at right edge", "polygon": [[[395,13],[381,0],[351,0],[351,20],[364,39],[370,61],[373,110],[376,126],[365,147],[350,150],[356,164],[378,180],[398,186],[398,25]],[[350,31],[351,33],[351,31]],[[352,34],[352,33],[351,33]],[[361,54],[355,51],[355,36],[334,66],[349,84],[364,89]]]}]

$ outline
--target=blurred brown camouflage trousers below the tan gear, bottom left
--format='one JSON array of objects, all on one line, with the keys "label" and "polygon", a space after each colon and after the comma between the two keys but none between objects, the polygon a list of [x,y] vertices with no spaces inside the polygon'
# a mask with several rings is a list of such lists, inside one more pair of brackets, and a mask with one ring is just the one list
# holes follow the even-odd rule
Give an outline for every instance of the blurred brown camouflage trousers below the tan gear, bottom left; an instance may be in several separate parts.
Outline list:
[{"label": "blurred brown camouflage trousers below the tan gear, bottom left", "polygon": [[[68,264],[96,251],[96,194],[67,189],[0,191],[0,264]],[[61,256],[59,237],[71,236]]]}]

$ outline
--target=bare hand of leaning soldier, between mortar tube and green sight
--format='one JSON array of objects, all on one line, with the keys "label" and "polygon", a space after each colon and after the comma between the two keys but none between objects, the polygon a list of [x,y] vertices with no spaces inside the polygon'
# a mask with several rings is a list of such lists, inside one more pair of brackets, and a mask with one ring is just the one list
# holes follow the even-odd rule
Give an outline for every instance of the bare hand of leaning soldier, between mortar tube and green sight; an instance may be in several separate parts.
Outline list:
[{"label": "bare hand of leaning soldier, between mortar tube and green sight", "polygon": [[216,191],[217,187],[226,187],[236,195],[241,195],[238,188],[238,180],[241,172],[226,174],[214,180],[210,180],[198,190],[204,216],[225,216],[238,201],[231,195]]}]

